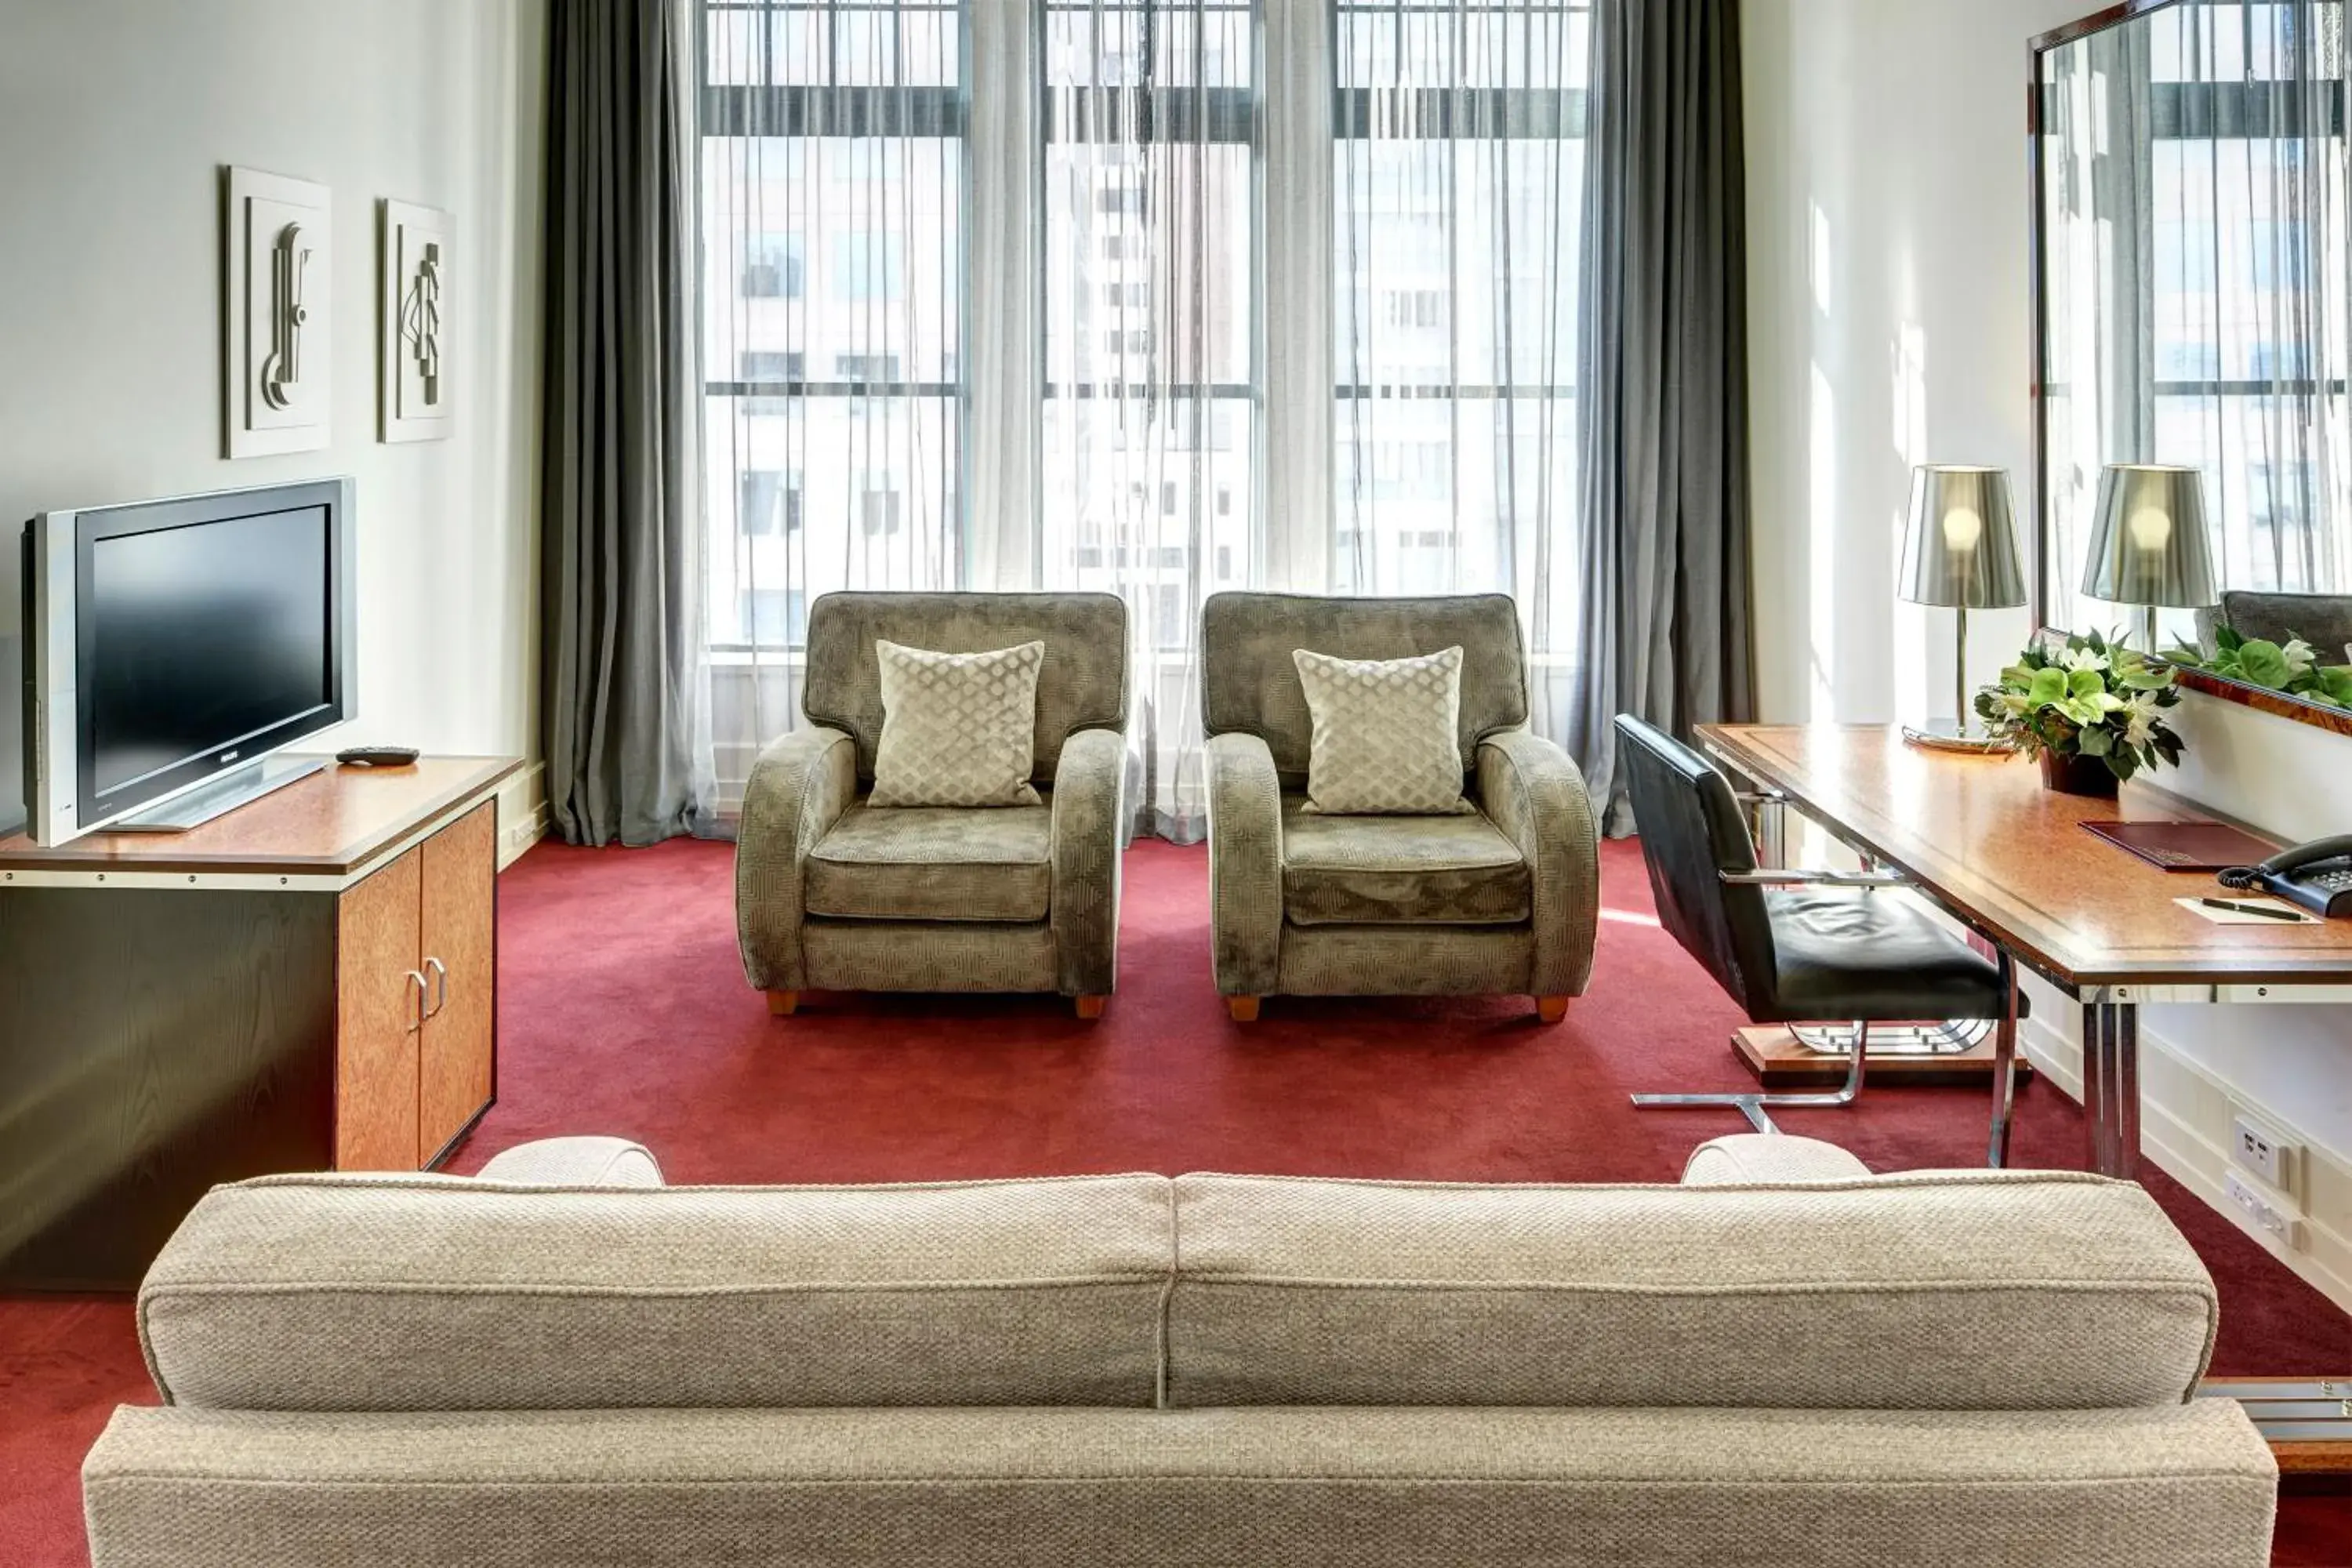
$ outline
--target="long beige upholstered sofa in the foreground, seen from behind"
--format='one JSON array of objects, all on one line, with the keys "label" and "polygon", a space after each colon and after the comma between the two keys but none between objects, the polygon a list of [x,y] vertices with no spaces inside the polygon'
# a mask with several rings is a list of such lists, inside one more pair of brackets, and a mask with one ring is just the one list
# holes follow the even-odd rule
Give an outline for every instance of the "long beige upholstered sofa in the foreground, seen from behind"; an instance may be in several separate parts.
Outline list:
[{"label": "long beige upholstered sofa in the foreground, seen from behind", "polygon": [[1682,1187],[654,1180],[212,1192],[94,1566],[2267,1556],[2270,1453],[2190,1399],[2213,1286],[2124,1182],[1795,1138]]}]

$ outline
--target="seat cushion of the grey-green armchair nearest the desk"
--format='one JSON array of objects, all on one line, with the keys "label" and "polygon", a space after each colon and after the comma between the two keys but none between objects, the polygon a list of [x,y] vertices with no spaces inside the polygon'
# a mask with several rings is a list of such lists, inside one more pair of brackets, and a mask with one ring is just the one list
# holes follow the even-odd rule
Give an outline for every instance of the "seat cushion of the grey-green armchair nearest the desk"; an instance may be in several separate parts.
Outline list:
[{"label": "seat cushion of the grey-green armchair nearest the desk", "polygon": [[1526,860],[1484,816],[1322,816],[1282,802],[1282,912],[1294,926],[1515,926]]}]

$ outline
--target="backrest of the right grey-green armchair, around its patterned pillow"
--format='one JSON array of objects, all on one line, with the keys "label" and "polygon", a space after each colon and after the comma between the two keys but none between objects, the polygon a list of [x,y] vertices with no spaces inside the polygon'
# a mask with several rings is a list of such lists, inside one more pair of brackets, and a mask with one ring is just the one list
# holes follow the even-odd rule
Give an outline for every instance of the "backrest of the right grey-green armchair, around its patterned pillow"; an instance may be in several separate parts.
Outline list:
[{"label": "backrest of the right grey-green armchair, around its patterned pillow", "polygon": [[1430,599],[1322,599],[1289,592],[1218,592],[1200,611],[1200,710],[1211,736],[1251,733],[1289,788],[1308,780],[1315,715],[1291,654],[1416,658],[1463,651],[1463,771],[1477,743],[1526,724],[1526,656],[1510,595]]}]

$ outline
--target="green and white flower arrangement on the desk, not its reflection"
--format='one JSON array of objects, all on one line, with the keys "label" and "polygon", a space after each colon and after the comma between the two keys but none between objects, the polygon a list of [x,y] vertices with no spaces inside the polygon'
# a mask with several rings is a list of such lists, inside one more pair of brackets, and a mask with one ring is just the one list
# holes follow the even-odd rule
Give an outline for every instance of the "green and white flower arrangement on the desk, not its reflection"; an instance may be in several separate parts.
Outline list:
[{"label": "green and white flower arrangement on the desk, not its reflection", "polygon": [[[1987,733],[2042,757],[2053,788],[2077,792],[2098,783],[2112,790],[2159,762],[2178,766],[2180,736],[2161,717],[2178,703],[2171,665],[2098,632],[2063,642],[2046,632],[2002,670],[1997,684],[1976,693]],[[2065,759],[2096,759],[2105,776],[2089,788],[2063,785]]]}]

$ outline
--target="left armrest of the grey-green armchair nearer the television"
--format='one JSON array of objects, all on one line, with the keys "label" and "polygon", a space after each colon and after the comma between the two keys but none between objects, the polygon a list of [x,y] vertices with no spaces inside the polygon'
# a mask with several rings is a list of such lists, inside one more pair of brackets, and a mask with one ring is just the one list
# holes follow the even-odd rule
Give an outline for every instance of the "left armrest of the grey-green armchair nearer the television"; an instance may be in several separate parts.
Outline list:
[{"label": "left armrest of the grey-green armchair nearer the television", "polygon": [[760,752],[736,827],[736,940],[760,990],[802,990],[802,870],[858,792],[856,745],[837,729],[795,729]]}]

